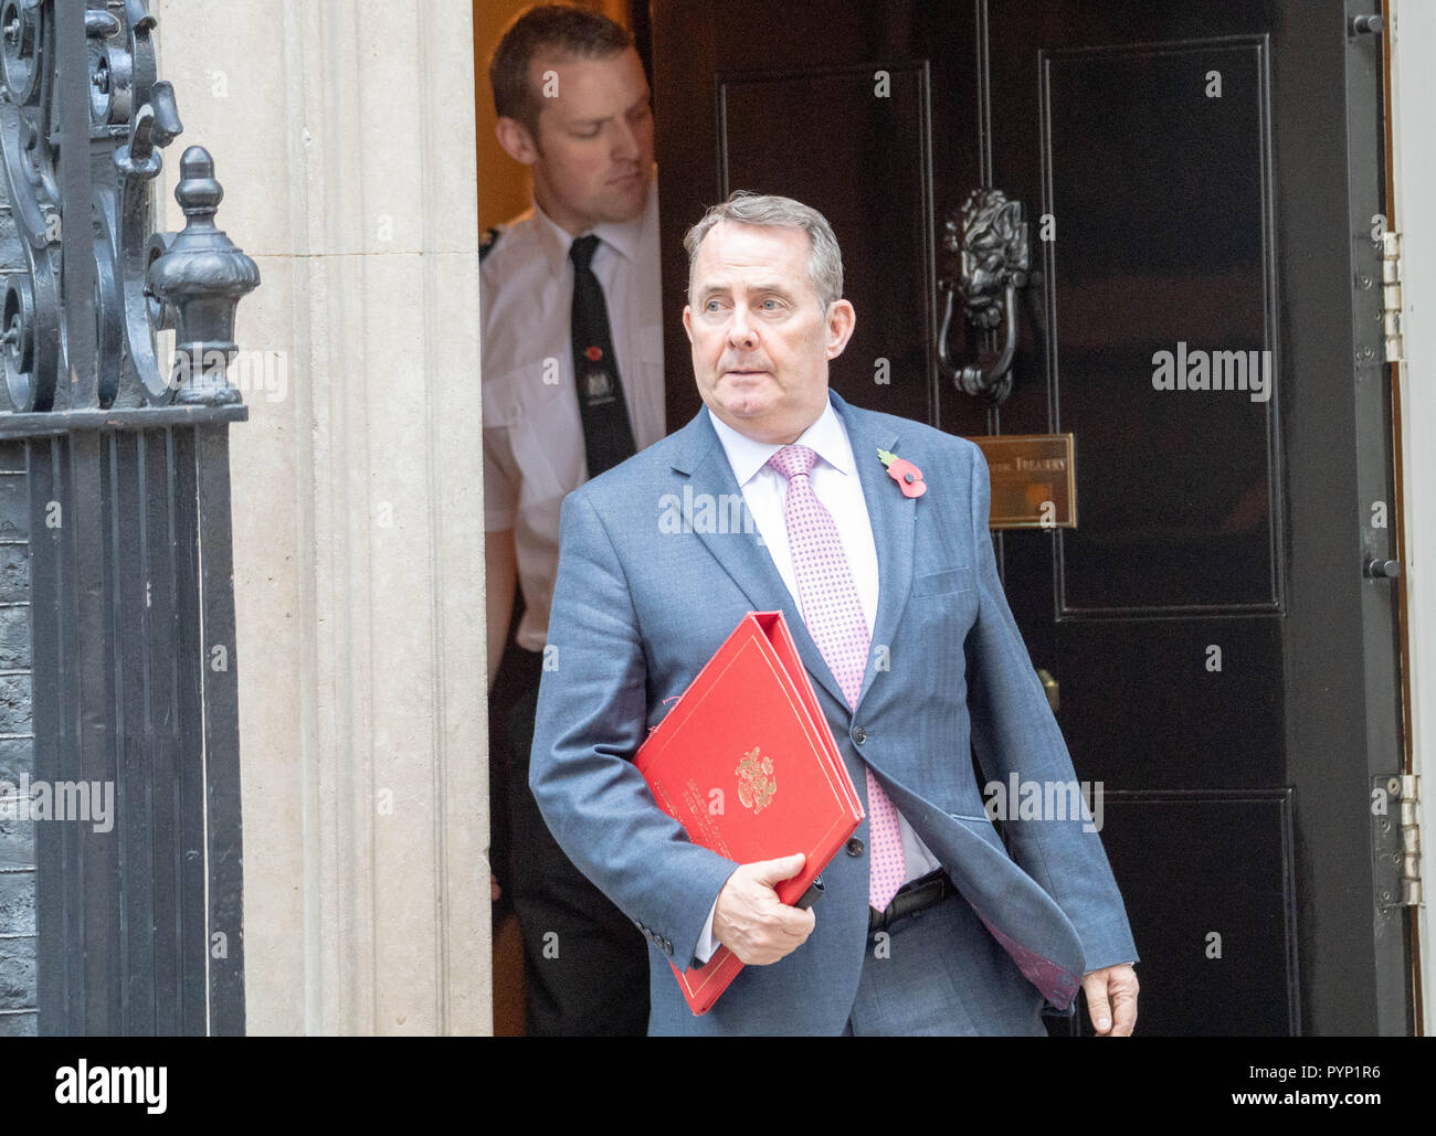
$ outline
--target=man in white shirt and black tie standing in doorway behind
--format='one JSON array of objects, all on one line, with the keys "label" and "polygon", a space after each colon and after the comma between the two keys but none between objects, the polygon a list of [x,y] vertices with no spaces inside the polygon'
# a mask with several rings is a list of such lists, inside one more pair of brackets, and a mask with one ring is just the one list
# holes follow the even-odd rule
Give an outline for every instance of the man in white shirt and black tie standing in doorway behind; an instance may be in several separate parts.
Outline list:
[{"label": "man in white shirt and black tie standing in doorway behind", "polygon": [[[498,142],[533,208],[481,251],[488,674],[508,714],[511,878],[531,1034],[642,1034],[648,947],[563,855],[528,789],[559,567],[559,508],[663,436],[653,119],[628,32],[583,9],[520,13],[490,60]],[[524,612],[505,653],[514,588]],[[517,676],[510,681],[511,676]]]}]

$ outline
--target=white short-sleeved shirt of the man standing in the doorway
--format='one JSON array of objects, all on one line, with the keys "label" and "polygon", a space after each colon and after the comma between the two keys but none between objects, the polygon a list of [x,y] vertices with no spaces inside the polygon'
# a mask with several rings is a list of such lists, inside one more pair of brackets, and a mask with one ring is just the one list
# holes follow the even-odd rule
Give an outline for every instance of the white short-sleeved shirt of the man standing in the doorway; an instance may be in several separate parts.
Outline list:
[{"label": "white short-sleeved shirt of the man standing in the doorway", "polygon": [[[638,449],[665,433],[658,184],[642,215],[592,229],[623,400]],[[484,531],[514,531],[526,611],[518,645],[541,651],[559,574],[559,506],[587,481],[573,379],[573,237],[537,204],[480,270]]]}]

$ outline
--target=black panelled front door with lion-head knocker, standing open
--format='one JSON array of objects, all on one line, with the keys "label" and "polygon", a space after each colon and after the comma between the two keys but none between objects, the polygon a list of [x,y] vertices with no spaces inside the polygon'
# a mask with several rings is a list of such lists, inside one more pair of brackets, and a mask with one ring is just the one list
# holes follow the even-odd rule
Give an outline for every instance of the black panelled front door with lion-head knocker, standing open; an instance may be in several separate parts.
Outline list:
[{"label": "black panelled front door with lion-head knocker, standing open", "polygon": [[[796,197],[843,248],[843,397],[1074,435],[1078,526],[995,541],[1100,786],[1143,1033],[1410,1027],[1396,594],[1367,574],[1394,557],[1367,11],[653,4],[665,278],[731,189]],[[1032,248],[1001,404],[938,367],[942,222],[978,186]],[[984,343],[958,316],[952,353]],[[668,344],[678,426],[698,397]]]}]

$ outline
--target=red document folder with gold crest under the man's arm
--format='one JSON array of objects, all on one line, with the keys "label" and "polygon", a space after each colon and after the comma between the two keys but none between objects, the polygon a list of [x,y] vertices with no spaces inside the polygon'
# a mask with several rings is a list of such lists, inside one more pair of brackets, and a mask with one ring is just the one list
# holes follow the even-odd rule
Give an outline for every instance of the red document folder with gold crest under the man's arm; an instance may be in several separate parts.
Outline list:
[{"label": "red document folder with gold crest under the man's arm", "polygon": [[[633,763],[694,843],[738,863],[803,852],[777,885],[796,902],[863,819],[781,611],[750,611],[708,660]],[[678,984],[707,1013],[742,970],[727,947]]]}]

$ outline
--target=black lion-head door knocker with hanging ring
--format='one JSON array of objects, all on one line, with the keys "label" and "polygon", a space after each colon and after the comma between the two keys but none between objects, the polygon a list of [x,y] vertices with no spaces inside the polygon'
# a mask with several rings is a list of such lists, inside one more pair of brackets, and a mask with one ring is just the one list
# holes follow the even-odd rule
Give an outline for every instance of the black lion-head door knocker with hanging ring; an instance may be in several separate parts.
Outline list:
[{"label": "black lion-head door knocker with hanging ring", "polygon": [[[1022,202],[1001,189],[974,189],[961,211],[943,224],[948,268],[938,287],[948,294],[938,331],[938,366],[958,389],[1001,403],[1012,392],[1017,350],[1017,290],[1027,287],[1028,244]],[[1002,327],[997,350],[981,351],[974,363],[954,360],[948,344],[955,295],[962,297],[968,323],[981,333]]]}]

